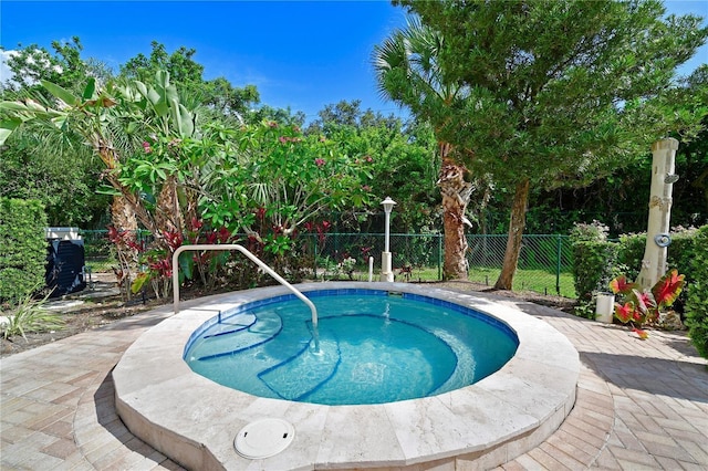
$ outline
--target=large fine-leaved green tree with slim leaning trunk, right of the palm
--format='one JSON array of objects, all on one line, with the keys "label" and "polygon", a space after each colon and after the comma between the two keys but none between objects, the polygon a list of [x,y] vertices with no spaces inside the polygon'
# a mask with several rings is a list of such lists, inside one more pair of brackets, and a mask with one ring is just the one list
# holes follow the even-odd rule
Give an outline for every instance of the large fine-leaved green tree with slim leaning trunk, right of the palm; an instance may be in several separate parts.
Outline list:
[{"label": "large fine-leaved green tree with slim leaning trunk, right of the palm", "polygon": [[470,169],[513,188],[497,289],[512,286],[531,188],[603,178],[702,116],[676,119],[663,98],[708,29],[665,18],[659,1],[399,3],[445,38],[445,82],[469,87],[441,136],[469,149]]}]

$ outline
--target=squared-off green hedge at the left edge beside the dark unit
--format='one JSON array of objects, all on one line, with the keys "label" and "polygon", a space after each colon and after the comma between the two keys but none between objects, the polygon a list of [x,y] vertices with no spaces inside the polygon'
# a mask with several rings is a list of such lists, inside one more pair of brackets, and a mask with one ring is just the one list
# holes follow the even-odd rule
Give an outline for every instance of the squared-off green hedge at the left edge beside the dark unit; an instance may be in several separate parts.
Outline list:
[{"label": "squared-off green hedge at the left edge beside the dark unit", "polygon": [[38,200],[0,198],[0,302],[44,285],[46,213]]}]

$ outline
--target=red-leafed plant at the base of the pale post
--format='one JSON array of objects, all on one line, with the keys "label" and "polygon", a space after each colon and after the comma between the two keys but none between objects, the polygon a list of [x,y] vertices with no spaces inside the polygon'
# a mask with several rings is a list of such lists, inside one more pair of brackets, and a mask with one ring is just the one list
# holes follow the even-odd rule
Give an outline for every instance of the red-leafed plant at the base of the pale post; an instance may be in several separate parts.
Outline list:
[{"label": "red-leafed plant at the base of the pale post", "polygon": [[631,324],[632,332],[639,338],[648,337],[641,327],[654,323],[663,310],[674,304],[684,289],[684,278],[671,270],[650,291],[644,291],[638,283],[628,282],[625,275],[617,276],[610,282],[610,289],[617,296],[615,317],[623,324]]}]

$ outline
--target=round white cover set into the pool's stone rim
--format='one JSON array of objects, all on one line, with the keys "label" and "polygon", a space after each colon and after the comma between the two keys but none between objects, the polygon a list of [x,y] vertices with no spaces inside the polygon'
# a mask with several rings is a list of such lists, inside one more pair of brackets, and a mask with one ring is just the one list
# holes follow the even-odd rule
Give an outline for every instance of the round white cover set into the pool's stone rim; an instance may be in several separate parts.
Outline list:
[{"label": "round white cover set into the pool's stone rim", "polygon": [[261,419],[239,430],[233,448],[243,458],[259,460],[283,451],[295,438],[295,429],[282,419]]}]

